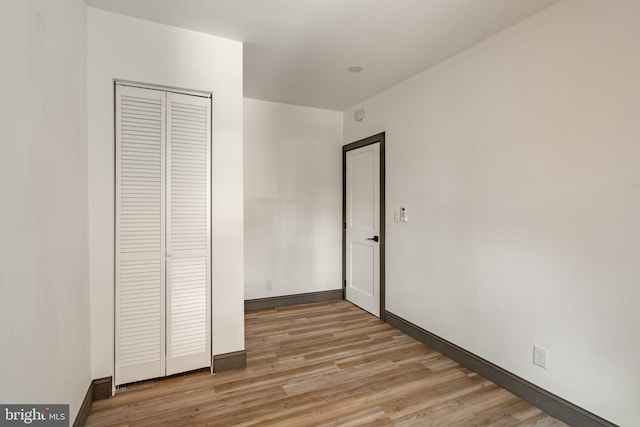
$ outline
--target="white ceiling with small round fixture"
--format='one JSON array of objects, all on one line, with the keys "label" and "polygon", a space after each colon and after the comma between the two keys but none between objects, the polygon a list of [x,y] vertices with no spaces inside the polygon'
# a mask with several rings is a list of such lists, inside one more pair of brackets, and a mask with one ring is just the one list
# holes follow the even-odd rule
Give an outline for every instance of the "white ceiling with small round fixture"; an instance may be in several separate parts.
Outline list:
[{"label": "white ceiling with small round fixture", "polygon": [[[343,111],[560,0],[87,0],[244,43],[244,96]],[[349,73],[360,66],[363,71]]]}]

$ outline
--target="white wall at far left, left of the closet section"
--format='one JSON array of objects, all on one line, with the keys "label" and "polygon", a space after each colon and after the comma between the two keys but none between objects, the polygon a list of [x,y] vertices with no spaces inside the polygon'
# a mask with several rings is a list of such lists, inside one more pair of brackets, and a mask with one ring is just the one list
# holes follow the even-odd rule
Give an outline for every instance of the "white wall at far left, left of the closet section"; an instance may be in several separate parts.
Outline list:
[{"label": "white wall at far left, left of the closet section", "polygon": [[91,382],[83,0],[0,3],[0,402]]}]

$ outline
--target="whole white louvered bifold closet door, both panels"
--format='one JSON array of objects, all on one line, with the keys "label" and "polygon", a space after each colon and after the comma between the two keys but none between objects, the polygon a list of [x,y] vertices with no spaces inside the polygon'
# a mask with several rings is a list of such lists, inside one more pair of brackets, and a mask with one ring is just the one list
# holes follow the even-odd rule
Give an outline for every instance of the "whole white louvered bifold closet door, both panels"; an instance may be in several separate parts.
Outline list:
[{"label": "whole white louvered bifold closet door, both panels", "polygon": [[116,84],[115,384],[211,364],[211,99]]}]

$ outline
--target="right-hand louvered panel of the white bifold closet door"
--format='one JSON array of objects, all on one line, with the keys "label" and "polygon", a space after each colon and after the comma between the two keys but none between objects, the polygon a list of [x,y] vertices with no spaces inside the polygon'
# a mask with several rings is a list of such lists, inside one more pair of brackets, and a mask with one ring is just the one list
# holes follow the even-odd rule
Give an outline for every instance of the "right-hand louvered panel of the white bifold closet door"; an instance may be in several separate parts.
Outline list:
[{"label": "right-hand louvered panel of the white bifold closet door", "polygon": [[167,375],[211,363],[210,109],[167,93]]}]

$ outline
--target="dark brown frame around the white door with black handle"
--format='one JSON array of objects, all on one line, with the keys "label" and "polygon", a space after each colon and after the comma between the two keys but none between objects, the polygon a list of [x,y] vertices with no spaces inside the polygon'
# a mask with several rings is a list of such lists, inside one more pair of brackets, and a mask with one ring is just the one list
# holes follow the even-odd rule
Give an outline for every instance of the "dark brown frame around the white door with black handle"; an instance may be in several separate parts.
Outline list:
[{"label": "dark brown frame around the white door with black handle", "polygon": [[347,297],[347,152],[380,143],[380,319],[386,320],[385,310],[385,133],[379,133],[342,146],[342,299]]}]

